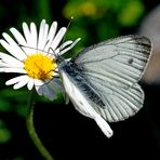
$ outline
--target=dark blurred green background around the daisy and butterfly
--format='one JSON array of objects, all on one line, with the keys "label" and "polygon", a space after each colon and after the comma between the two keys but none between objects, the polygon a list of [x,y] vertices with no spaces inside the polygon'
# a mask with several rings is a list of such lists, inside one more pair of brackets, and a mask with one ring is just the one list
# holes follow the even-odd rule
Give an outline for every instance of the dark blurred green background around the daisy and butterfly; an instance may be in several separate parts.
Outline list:
[{"label": "dark blurred green background around the daisy and butterfly", "polygon": [[[74,16],[66,39],[82,40],[67,54],[71,56],[99,41],[136,34],[144,17],[158,4],[154,0],[1,0],[0,32],[10,32],[11,27],[22,30],[23,22],[39,26],[42,18],[49,24],[57,21],[58,27],[67,26]],[[1,46],[0,50],[3,51]],[[41,160],[25,125],[28,91],[26,88],[14,91],[4,84],[13,77],[0,74],[0,160]],[[143,88],[147,97],[145,109],[124,122],[112,123],[115,135],[110,139],[71,104],[65,106],[62,96],[55,102],[37,97],[37,132],[55,160],[107,160],[110,156],[116,158],[117,152],[122,159],[126,154],[134,158],[160,158],[160,124],[148,116],[150,108],[157,106],[154,95],[160,90],[146,84]]]}]

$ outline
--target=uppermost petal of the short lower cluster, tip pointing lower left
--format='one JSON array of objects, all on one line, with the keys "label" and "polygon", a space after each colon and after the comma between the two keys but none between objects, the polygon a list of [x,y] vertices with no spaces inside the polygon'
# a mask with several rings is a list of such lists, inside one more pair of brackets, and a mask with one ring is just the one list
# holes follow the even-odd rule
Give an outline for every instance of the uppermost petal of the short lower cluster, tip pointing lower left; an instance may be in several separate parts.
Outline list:
[{"label": "uppermost petal of the short lower cluster, tip pointing lower left", "polygon": [[18,76],[18,77],[15,77],[15,78],[12,78],[12,79],[8,80],[5,82],[5,84],[11,85],[11,84],[15,84],[15,83],[17,83],[19,81],[28,81],[28,80],[29,80],[29,77],[26,76],[26,75],[23,75],[23,76]]}]

